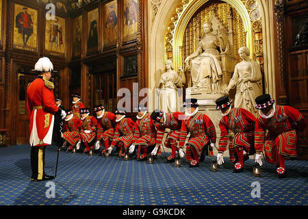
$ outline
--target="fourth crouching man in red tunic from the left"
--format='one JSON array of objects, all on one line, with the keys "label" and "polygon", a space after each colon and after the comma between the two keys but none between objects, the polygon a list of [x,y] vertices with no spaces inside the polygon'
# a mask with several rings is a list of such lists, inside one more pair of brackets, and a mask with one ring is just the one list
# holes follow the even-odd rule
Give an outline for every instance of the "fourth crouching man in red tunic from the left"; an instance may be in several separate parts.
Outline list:
[{"label": "fourth crouching man in red tunic from the left", "polygon": [[112,144],[107,151],[111,153],[114,146],[118,146],[120,148],[119,157],[125,157],[125,154],[129,153],[129,146],[140,138],[140,131],[131,118],[125,118],[124,109],[117,109],[114,114],[116,115],[116,128]]}]

